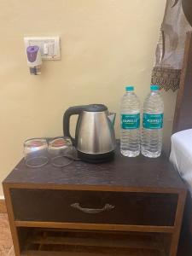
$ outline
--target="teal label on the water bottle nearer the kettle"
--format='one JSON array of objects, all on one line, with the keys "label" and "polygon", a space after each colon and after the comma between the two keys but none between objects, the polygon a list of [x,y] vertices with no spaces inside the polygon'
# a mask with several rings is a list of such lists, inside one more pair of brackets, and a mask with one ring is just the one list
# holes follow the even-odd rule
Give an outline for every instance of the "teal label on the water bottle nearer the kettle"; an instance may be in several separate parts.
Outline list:
[{"label": "teal label on the water bottle nearer the kettle", "polygon": [[137,129],[140,127],[140,113],[121,114],[121,128],[125,130]]}]

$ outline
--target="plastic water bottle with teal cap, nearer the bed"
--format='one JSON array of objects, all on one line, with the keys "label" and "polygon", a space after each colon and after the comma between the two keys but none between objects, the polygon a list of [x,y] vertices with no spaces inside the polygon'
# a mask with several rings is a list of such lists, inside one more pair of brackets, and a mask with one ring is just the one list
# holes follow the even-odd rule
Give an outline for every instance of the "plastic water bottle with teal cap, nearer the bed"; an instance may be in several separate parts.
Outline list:
[{"label": "plastic water bottle with teal cap, nearer the bed", "polygon": [[162,148],[164,104],[159,86],[151,85],[151,92],[143,104],[142,154],[158,157]]}]

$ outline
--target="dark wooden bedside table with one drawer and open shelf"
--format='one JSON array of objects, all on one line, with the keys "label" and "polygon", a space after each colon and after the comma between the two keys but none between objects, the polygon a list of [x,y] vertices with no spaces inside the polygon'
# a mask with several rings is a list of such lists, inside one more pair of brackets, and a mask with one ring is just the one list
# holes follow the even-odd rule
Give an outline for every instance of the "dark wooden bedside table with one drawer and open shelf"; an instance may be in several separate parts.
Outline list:
[{"label": "dark wooden bedside table with one drawer and open shelf", "polygon": [[[118,150],[117,150],[118,151]],[[3,181],[16,256],[176,256],[186,188],[165,157],[26,167]]]}]

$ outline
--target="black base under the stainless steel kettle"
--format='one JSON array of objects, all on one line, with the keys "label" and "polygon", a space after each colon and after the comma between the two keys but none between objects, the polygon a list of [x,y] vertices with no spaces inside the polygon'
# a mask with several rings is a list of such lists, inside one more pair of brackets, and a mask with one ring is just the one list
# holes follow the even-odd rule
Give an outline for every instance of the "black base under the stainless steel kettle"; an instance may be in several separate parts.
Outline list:
[{"label": "black base under the stainless steel kettle", "polygon": [[78,157],[80,160],[83,160],[92,164],[99,164],[113,160],[114,151],[104,153],[104,154],[86,154],[78,151]]}]

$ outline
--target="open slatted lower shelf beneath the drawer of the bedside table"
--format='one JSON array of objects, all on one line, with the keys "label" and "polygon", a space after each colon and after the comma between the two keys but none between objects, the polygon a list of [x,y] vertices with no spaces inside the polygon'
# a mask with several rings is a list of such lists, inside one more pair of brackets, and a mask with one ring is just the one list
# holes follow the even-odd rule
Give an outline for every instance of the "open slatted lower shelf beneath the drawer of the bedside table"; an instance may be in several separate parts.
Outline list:
[{"label": "open slatted lower shelf beneath the drawer of the bedside table", "polygon": [[25,256],[167,256],[171,234],[20,228]]}]

